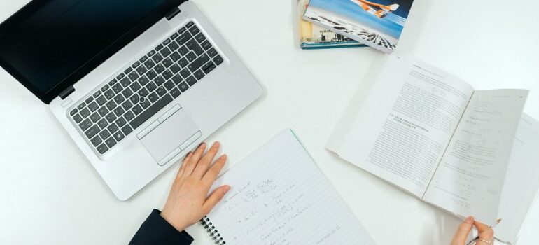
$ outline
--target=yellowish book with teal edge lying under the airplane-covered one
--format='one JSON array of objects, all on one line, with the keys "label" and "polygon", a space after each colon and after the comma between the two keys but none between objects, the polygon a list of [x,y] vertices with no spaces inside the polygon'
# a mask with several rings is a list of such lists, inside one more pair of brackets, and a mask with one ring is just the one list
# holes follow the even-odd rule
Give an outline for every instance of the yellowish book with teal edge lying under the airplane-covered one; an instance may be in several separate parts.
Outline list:
[{"label": "yellowish book with teal edge lying under the airplane-covered one", "polygon": [[311,22],[303,20],[303,15],[307,9],[309,0],[297,0],[297,10],[300,29],[300,48],[318,49],[318,48],[353,48],[365,47],[363,43],[352,38],[337,34]]}]

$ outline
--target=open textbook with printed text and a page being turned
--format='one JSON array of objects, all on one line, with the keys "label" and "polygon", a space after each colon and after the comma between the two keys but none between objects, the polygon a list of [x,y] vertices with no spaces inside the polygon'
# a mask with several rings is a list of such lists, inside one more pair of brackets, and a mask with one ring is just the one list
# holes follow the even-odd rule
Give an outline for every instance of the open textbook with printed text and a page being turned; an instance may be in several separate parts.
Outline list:
[{"label": "open textbook with printed text and a page being turned", "polygon": [[474,90],[413,57],[384,55],[374,60],[327,148],[440,209],[502,226],[512,218],[500,216],[508,204],[501,198],[521,190],[503,194],[527,94]]}]

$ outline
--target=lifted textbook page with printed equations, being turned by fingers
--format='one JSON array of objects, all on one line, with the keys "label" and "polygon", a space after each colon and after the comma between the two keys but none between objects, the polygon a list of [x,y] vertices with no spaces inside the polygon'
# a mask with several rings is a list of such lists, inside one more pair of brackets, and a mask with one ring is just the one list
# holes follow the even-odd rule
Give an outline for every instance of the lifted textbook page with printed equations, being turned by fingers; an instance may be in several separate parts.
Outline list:
[{"label": "lifted textbook page with printed equations, being turned by fingers", "polygon": [[477,90],[423,200],[493,226],[528,90]]}]

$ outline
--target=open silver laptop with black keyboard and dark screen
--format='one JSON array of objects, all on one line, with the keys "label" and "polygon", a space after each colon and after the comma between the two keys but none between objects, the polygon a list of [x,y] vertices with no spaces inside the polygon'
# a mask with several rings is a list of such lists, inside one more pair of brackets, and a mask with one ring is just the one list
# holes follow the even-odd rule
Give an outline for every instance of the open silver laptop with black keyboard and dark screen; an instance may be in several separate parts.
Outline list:
[{"label": "open silver laptop with black keyboard and dark screen", "polygon": [[31,1],[0,25],[0,65],[48,104],[120,200],[262,94],[186,0]]}]

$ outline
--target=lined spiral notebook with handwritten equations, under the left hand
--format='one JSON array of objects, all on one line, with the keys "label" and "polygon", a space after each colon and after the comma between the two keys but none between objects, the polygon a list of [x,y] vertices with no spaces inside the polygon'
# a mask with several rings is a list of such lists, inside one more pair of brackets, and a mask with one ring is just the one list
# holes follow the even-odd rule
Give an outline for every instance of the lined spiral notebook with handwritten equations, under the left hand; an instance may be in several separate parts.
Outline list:
[{"label": "lined spiral notebook with handwritten equations, under the left hand", "polygon": [[232,189],[201,223],[216,244],[374,244],[292,130],[216,180]]}]

